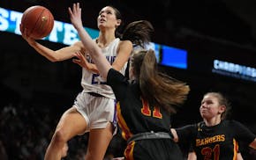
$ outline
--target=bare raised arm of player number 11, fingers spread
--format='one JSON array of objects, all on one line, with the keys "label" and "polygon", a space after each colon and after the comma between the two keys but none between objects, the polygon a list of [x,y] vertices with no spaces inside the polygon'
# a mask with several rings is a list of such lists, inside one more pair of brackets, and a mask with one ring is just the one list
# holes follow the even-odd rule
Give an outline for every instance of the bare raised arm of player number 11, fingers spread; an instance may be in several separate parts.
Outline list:
[{"label": "bare raised arm of player number 11, fingers spread", "polygon": [[[90,35],[84,29],[81,20],[81,8],[79,7],[79,3],[73,4],[72,9],[69,7],[69,14],[72,25],[74,25],[79,33],[80,40],[82,41],[83,45],[87,47],[87,50],[89,51],[88,53],[96,64],[101,76],[106,78],[111,65],[107,61],[106,57],[102,55],[101,48],[97,46],[94,40],[92,40]],[[77,53],[77,55],[79,55],[79,53]]]}]

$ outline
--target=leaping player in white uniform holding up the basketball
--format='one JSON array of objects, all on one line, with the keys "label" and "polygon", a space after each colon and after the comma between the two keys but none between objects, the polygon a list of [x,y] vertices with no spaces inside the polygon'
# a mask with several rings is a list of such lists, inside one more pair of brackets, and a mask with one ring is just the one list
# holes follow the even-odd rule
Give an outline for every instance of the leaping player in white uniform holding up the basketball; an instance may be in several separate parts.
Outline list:
[{"label": "leaping player in white uniform holding up the basketball", "polygon": [[[132,43],[139,44],[147,41],[149,38],[147,32],[151,32],[152,28],[148,26],[149,28],[143,31],[140,26],[136,28],[132,25],[132,29],[127,28],[126,33],[120,34],[117,32],[117,28],[121,23],[121,14],[115,7],[106,6],[102,8],[97,18],[100,33],[95,42],[102,48],[102,53],[109,60],[112,67],[124,74],[132,52]],[[138,24],[145,25],[142,21]],[[146,23],[146,25],[148,24]],[[136,34],[136,29],[139,29],[137,37],[141,33],[139,37],[141,40],[134,37],[131,39],[132,35]],[[55,51],[28,37],[26,28],[23,28],[22,25],[20,25],[20,31],[27,43],[50,62],[71,59],[77,52],[87,55],[87,48],[83,46],[81,41],[70,47],[63,47]],[[103,159],[108,149],[116,127],[115,96],[111,88],[105,84],[106,80],[98,74],[98,69],[89,56],[87,56],[86,66],[87,68],[83,68],[81,78],[83,91],[75,99],[74,105],[64,112],[59,120],[46,151],[45,160],[61,159],[65,143],[72,137],[83,135],[86,132],[89,132],[87,160]]]}]

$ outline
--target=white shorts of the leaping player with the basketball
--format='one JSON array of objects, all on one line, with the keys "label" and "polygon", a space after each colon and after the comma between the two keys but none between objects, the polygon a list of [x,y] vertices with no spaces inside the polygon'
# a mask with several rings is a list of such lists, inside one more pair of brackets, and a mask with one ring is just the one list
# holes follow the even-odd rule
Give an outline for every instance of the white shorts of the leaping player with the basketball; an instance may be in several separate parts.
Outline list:
[{"label": "white shorts of the leaping player with the basketball", "polygon": [[95,97],[82,91],[75,99],[74,106],[87,121],[85,133],[91,129],[105,128],[108,122],[111,122],[114,125],[114,131],[116,130],[117,112],[115,99]]}]

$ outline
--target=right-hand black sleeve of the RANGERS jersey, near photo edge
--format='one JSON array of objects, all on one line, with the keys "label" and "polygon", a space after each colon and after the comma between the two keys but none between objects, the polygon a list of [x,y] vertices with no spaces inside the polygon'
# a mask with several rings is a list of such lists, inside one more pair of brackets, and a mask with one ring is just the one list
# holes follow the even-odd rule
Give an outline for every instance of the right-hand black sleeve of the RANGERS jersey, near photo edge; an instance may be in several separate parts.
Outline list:
[{"label": "right-hand black sleeve of the RANGERS jersey, near photo edge", "polygon": [[231,120],[230,125],[232,126],[235,138],[238,141],[243,141],[246,145],[249,145],[256,138],[256,135],[254,135],[248,127],[245,127],[245,125],[237,120]]}]

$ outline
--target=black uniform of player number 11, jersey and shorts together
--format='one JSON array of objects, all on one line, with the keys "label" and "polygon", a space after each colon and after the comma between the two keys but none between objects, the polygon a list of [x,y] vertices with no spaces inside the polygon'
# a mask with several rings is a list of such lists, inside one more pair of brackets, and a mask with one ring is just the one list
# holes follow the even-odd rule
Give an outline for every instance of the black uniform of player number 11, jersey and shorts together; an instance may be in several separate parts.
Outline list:
[{"label": "black uniform of player number 11, jersey and shorts together", "polygon": [[[131,140],[124,150],[126,160],[183,160],[177,143],[170,138],[170,115],[161,107],[147,104],[140,97],[139,84],[130,83],[115,69],[109,69],[107,83],[117,98],[117,118],[124,140],[136,135],[164,133],[169,138]],[[150,86],[148,86],[150,87]],[[153,133],[153,135],[154,135]],[[134,136],[132,136],[134,135]]]}]

